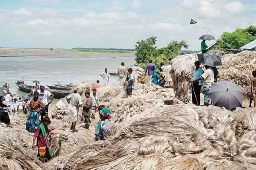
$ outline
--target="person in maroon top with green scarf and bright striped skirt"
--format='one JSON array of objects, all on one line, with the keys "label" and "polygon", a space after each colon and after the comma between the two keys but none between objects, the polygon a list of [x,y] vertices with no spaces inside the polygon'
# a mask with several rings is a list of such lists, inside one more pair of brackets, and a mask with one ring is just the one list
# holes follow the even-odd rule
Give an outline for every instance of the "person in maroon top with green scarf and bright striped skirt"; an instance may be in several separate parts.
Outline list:
[{"label": "person in maroon top with green scarf and bright striped skirt", "polygon": [[[53,157],[53,148],[50,144],[50,133],[48,130],[48,125],[51,124],[51,120],[49,117],[44,117],[40,126],[37,128],[32,147],[38,147],[37,158],[42,162],[47,162],[49,159]],[[35,141],[37,139],[37,144],[35,145]]]}]

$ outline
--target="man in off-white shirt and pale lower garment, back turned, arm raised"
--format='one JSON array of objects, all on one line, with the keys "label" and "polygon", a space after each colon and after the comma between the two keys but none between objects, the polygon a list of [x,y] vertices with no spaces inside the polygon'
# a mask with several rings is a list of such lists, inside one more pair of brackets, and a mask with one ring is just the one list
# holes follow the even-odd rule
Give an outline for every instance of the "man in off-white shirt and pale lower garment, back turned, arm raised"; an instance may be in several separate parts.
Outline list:
[{"label": "man in off-white shirt and pale lower garment, back turned, arm raised", "polygon": [[72,130],[72,133],[76,131],[76,122],[78,120],[78,111],[79,107],[82,106],[82,98],[81,95],[83,94],[84,91],[79,91],[77,93],[77,90],[74,90],[74,92],[70,95],[68,95],[66,98],[69,102],[69,111],[72,115],[72,124],[70,127],[70,130]]}]

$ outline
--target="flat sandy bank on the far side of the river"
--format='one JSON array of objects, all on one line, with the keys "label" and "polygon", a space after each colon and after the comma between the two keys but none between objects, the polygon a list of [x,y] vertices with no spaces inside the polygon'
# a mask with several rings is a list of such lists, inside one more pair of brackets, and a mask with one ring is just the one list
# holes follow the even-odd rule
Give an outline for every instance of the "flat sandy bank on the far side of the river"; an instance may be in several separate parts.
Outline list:
[{"label": "flat sandy bank on the far side of the river", "polygon": [[64,49],[0,48],[0,57],[131,57],[134,53],[97,53],[65,51]]}]

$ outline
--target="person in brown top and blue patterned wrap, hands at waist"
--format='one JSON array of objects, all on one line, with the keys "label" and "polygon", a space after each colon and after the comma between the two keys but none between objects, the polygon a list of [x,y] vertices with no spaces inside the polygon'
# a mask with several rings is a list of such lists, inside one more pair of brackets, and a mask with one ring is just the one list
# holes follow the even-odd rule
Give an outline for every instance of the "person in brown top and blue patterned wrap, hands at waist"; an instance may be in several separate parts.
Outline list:
[{"label": "person in brown top and blue patterned wrap, hands at waist", "polygon": [[40,125],[39,113],[44,110],[44,103],[38,98],[39,93],[34,92],[34,98],[30,101],[30,113],[26,121],[26,130],[35,132]]}]

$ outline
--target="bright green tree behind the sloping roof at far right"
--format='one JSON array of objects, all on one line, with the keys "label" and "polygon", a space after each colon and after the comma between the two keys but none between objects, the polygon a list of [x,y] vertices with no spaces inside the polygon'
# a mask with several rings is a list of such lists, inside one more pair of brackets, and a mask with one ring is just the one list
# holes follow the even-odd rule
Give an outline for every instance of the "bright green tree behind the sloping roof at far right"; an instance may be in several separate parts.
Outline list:
[{"label": "bright green tree behind the sloping roof at far right", "polygon": [[[232,33],[224,32],[221,36],[222,40],[230,45],[233,49],[239,49],[241,46],[256,39],[256,26],[250,26],[245,29],[236,29]],[[217,40],[218,45],[216,46],[219,50],[227,51],[230,48],[221,39]]]}]

